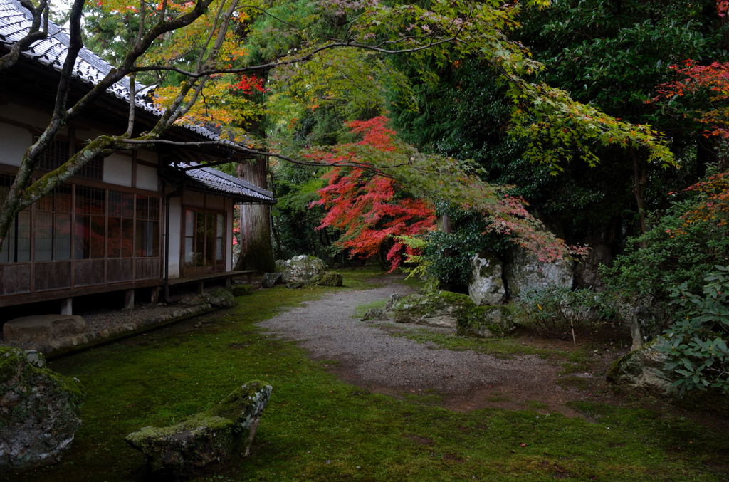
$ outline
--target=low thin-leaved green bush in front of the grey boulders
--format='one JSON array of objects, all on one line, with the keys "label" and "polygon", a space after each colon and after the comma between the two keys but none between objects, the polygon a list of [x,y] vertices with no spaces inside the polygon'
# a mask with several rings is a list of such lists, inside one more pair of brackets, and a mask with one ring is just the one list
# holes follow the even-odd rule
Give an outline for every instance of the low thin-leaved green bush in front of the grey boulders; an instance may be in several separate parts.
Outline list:
[{"label": "low thin-leaved green bush in front of the grey boulders", "polygon": [[519,302],[526,311],[526,326],[552,337],[566,338],[572,327],[616,315],[603,294],[587,288],[572,291],[550,285],[529,289],[519,295]]}]

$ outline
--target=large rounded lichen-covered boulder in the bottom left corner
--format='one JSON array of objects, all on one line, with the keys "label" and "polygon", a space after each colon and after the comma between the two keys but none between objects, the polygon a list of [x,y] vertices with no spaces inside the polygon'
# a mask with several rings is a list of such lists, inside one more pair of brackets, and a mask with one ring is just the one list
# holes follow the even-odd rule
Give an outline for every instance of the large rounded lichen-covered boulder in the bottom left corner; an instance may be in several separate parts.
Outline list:
[{"label": "large rounded lichen-covered boulder in the bottom left corner", "polygon": [[0,347],[0,470],[58,462],[81,426],[82,397],[41,354]]}]

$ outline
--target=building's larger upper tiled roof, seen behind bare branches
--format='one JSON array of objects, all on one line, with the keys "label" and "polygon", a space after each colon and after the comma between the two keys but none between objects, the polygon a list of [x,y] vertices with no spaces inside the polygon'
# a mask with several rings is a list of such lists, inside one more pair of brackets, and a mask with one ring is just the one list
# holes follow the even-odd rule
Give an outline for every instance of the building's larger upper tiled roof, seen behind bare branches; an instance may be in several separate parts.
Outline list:
[{"label": "building's larger upper tiled roof, seen behind bare branches", "polygon": [[[0,0],[0,47],[9,48],[15,42],[18,42],[26,35],[31,28],[33,16],[31,12],[23,7],[17,0]],[[55,71],[61,71],[63,62],[66,61],[66,52],[69,48],[70,38],[61,27],[48,21],[48,36],[46,39],[39,40],[31,44],[31,46],[23,51],[21,55],[31,59],[43,66],[49,66]],[[112,69],[112,65],[104,61],[101,57],[83,47],[79,52],[74,66],[74,77],[95,85],[103,79]],[[146,96],[151,90],[151,86],[136,84],[136,95],[134,104],[145,111],[160,115],[162,111],[157,109],[155,104],[148,101]],[[126,77],[106,90],[112,96],[129,101],[129,79]],[[189,131],[195,132],[206,139],[214,141],[222,141],[225,144],[233,144],[227,139],[221,139],[219,133],[208,125],[187,124],[184,125]]]}]

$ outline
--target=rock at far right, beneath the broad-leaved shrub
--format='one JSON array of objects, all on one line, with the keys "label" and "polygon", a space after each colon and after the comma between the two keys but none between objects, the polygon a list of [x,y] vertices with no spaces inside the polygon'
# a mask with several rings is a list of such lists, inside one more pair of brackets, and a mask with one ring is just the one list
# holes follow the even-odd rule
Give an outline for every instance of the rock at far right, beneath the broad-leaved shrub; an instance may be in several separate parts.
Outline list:
[{"label": "rock at far right, beneath the broad-leaved shrub", "polygon": [[676,397],[673,374],[666,370],[666,354],[655,349],[656,341],[633,350],[613,363],[607,373],[608,381],[667,397]]}]

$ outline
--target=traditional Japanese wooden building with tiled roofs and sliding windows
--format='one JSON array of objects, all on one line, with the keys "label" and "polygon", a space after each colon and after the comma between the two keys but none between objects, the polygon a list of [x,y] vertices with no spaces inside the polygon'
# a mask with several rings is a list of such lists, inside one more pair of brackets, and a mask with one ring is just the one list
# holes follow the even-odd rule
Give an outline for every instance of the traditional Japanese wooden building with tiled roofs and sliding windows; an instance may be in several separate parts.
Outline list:
[{"label": "traditional Japanese wooden building with tiled roofs and sliding windows", "polygon": [[[31,26],[16,0],[0,0],[0,55]],[[0,201],[23,152],[50,120],[69,36],[50,23],[9,69],[0,70]],[[112,66],[83,48],[74,66],[70,101]],[[141,86],[133,99],[136,132],[161,114]],[[47,149],[36,177],[61,166],[89,139],[125,131],[128,79],[76,117]],[[174,126],[174,141],[219,140],[208,125]],[[70,313],[81,295],[144,288],[159,294],[170,284],[225,279],[233,274],[233,210],[238,204],[273,204],[270,191],[205,164],[241,160],[225,147],[148,147],[114,152],[85,165],[15,218],[0,251],[0,307],[59,300]]]}]

